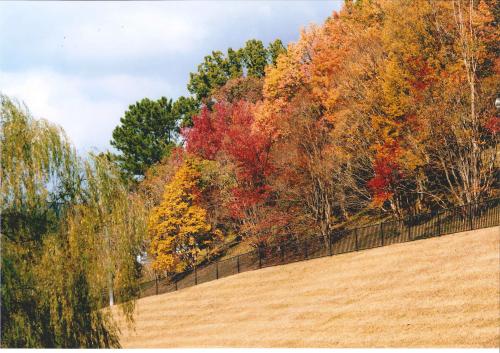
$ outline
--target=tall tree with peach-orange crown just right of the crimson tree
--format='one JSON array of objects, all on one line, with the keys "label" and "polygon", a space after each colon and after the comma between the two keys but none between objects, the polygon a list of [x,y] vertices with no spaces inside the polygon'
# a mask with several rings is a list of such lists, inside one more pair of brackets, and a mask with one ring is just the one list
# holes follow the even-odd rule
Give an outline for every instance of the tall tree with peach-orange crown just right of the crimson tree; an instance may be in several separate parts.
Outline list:
[{"label": "tall tree with peach-orange crown just right of the crimson tree", "polygon": [[342,62],[337,48],[344,42],[343,33],[331,28],[338,22],[303,31],[299,42],[268,70],[255,123],[275,139],[272,155],[279,171],[271,179],[279,190],[277,204],[302,220],[295,232],[304,234],[301,226],[307,224],[325,238],[335,223],[355,211],[351,205],[364,188],[353,178],[357,163],[349,160],[346,150],[354,145],[344,140],[356,132],[355,125],[351,130],[326,114],[328,99],[334,97],[328,80],[339,75],[332,72]]}]

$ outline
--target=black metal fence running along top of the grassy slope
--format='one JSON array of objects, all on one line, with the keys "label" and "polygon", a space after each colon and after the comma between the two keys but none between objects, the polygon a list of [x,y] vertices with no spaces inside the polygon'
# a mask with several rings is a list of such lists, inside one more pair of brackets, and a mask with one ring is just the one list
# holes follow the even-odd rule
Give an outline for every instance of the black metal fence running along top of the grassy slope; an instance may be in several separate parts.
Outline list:
[{"label": "black metal fence running along top of the grassy slope", "polygon": [[141,284],[139,297],[173,292],[259,268],[403,243],[500,225],[500,198],[419,214],[365,227],[343,229],[329,237],[279,241],[181,274],[176,280]]}]

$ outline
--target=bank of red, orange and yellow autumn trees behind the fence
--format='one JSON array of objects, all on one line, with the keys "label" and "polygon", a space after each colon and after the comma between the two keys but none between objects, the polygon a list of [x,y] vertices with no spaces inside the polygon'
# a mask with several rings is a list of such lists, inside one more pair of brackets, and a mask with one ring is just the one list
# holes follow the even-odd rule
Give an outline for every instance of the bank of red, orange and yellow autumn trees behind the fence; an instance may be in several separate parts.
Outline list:
[{"label": "bank of red, orange and yellow autumn trees behind the fence", "polygon": [[192,268],[234,234],[326,237],[360,213],[497,195],[499,14],[487,0],[346,1],[262,54],[263,74],[231,50],[207,57],[188,86],[208,82],[200,112],[138,185],[155,269]]}]

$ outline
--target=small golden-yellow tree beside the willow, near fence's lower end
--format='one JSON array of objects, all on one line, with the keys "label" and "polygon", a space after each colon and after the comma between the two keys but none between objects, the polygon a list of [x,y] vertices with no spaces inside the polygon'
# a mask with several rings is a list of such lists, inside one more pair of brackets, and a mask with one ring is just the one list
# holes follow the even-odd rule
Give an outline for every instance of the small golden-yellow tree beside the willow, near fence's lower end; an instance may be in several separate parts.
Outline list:
[{"label": "small golden-yellow tree beside the willow, near fence's lower end", "polygon": [[163,200],[149,218],[153,269],[167,273],[194,268],[200,250],[222,236],[207,222],[200,198],[200,165],[187,159],[165,187]]}]

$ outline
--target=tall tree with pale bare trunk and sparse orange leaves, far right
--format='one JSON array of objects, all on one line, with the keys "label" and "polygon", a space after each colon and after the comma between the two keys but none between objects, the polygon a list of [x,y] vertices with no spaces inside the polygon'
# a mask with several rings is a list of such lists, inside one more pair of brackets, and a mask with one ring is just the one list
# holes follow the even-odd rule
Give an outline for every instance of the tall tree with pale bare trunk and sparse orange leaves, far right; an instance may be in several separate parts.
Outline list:
[{"label": "tall tree with pale bare trunk and sparse orange leaves, far right", "polygon": [[[442,103],[422,107],[425,116],[435,119],[429,144],[424,146],[429,147],[426,152],[437,171],[432,180],[438,183],[433,187],[451,197],[435,191],[432,195],[462,205],[491,196],[497,178],[499,135],[489,128],[492,119],[498,119],[492,102],[500,87],[498,67],[492,69],[498,61],[492,51],[492,43],[498,43],[496,10],[491,2],[464,0],[433,10],[438,12],[436,23],[449,29],[439,33],[449,43],[443,50],[454,55],[445,56],[447,65],[431,86],[431,94]],[[446,111],[445,119],[436,114],[436,108]]]}]

